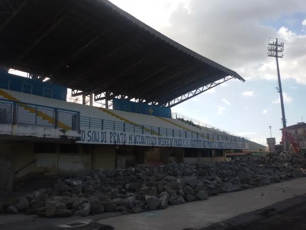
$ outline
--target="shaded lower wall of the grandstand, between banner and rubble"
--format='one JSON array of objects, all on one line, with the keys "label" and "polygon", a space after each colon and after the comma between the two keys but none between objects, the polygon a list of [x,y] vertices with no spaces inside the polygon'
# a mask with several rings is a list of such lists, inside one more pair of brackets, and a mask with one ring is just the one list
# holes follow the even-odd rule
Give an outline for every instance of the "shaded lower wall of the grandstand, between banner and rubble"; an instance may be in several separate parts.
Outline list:
[{"label": "shaded lower wall of the grandstand, between banner and rubble", "polygon": [[[37,139],[39,140],[39,139]],[[120,154],[115,145],[89,145],[16,140],[1,144],[0,193],[13,188],[13,181],[31,180],[35,176],[65,175],[79,170],[105,170],[135,167],[138,164],[160,165],[170,162],[194,164],[198,162],[223,161],[224,156],[185,157],[184,148],[145,147],[135,148],[132,154]],[[118,163],[120,160],[120,164]]]}]

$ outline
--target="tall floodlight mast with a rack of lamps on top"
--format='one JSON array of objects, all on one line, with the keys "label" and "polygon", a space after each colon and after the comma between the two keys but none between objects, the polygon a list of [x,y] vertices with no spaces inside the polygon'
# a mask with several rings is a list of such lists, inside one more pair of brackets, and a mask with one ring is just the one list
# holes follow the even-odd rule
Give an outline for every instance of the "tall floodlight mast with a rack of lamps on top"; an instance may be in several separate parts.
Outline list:
[{"label": "tall floodlight mast with a rack of lamps on top", "polygon": [[[279,74],[278,58],[284,57],[284,40],[279,38],[270,37],[268,41],[268,57],[276,58],[276,67],[277,67],[277,77],[278,77],[278,93],[281,98],[281,107],[282,107],[282,120],[283,120],[283,129],[286,128],[286,116],[285,116],[285,107],[283,99],[283,89],[281,82],[281,75]],[[285,149],[289,150],[288,139],[285,136]]]}]

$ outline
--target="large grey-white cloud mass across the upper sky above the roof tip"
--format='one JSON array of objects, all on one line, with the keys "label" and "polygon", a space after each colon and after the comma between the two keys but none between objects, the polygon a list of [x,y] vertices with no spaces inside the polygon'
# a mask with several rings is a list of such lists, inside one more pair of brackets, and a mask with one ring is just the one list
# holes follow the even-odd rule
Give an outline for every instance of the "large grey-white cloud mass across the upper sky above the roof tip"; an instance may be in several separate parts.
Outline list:
[{"label": "large grey-white cloud mass across the upper sky above the roof tip", "polygon": [[[279,0],[245,0],[244,4],[241,0],[111,2],[187,48],[233,69],[248,81],[276,80],[275,59],[267,57],[265,49],[269,37],[284,38],[285,56],[279,59],[282,78],[306,84],[305,33],[265,23],[276,22],[283,15],[305,12],[303,0],[291,0],[290,4],[286,1],[279,4]],[[298,23],[305,27],[306,19]]]}]

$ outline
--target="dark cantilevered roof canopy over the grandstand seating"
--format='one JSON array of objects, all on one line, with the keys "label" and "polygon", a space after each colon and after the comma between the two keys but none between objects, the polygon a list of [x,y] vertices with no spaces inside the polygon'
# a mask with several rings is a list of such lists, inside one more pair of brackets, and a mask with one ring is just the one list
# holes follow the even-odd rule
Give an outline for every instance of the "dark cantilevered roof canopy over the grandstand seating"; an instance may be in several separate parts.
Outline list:
[{"label": "dark cantilevered roof canopy over the grandstand seating", "polygon": [[124,95],[171,107],[232,78],[244,81],[107,0],[0,0],[0,44],[3,67],[96,100]]}]

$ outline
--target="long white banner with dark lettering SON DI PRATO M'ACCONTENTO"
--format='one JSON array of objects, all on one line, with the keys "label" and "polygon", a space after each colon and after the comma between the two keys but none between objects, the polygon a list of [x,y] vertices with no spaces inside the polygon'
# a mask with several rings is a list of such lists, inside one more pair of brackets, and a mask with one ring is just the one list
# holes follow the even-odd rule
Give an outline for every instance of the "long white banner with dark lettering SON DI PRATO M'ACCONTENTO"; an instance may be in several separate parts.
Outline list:
[{"label": "long white banner with dark lettering SON DI PRATO M'ACCONTENTO", "polygon": [[189,139],[94,129],[81,130],[81,140],[77,141],[77,143],[208,149],[248,149],[248,143],[246,142],[208,141],[203,139]]}]

